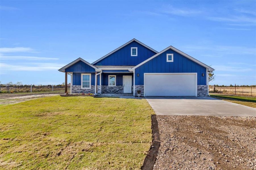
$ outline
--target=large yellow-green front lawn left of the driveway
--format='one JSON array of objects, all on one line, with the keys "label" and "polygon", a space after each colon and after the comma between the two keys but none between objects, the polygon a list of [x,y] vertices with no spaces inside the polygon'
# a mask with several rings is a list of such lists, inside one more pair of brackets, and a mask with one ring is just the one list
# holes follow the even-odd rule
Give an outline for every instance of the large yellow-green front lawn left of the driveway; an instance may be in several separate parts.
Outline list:
[{"label": "large yellow-green front lawn left of the driveway", "polygon": [[0,110],[3,169],[140,169],[152,142],[145,99],[53,96]]}]

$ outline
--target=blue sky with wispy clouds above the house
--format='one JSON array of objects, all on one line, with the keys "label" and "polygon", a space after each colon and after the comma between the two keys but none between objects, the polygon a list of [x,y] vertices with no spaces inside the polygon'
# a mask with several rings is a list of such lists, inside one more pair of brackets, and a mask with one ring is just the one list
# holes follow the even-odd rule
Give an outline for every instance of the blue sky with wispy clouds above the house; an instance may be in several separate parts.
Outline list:
[{"label": "blue sky with wispy clouds above the house", "polygon": [[60,84],[133,38],[211,65],[210,84],[256,84],[256,1],[1,1],[0,81]]}]

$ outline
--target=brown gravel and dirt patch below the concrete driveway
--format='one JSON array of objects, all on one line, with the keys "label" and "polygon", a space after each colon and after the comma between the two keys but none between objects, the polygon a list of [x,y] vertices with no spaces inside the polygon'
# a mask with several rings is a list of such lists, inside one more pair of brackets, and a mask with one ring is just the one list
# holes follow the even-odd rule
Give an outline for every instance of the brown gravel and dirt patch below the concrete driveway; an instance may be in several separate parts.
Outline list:
[{"label": "brown gravel and dirt patch below the concrete driveway", "polygon": [[256,169],[256,117],[157,115],[154,169]]}]

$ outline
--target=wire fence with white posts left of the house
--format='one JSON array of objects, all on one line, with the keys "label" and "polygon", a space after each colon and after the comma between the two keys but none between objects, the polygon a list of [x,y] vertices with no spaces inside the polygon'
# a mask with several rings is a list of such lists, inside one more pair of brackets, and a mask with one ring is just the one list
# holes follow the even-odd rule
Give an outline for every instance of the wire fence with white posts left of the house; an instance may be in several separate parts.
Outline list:
[{"label": "wire fence with white posts left of the house", "polygon": [[[19,93],[19,92],[48,92],[64,91],[65,86],[59,85],[17,85],[17,84],[0,84],[0,93]],[[68,86],[70,89],[70,86]]]}]

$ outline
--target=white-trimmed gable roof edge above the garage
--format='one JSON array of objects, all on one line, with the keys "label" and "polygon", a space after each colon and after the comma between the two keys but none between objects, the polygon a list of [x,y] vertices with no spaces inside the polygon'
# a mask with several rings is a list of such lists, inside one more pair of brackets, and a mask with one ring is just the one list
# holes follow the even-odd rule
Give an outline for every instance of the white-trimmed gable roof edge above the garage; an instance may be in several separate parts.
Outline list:
[{"label": "white-trimmed gable roof edge above the garage", "polygon": [[190,59],[190,60],[196,62],[196,63],[199,64],[199,65],[202,65],[202,66],[205,67],[205,68],[208,68],[209,71],[214,71],[214,69],[213,69],[212,67],[210,67],[210,66],[208,66],[208,65],[206,65],[206,64],[204,64],[204,63],[202,63],[201,61],[198,61],[197,59],[195,59],[195,58],[189,56],[188,54],[186,54],[186,53],[184,53],[184,52],[178,50],[177,48],[174,48],[173,46],[169,46],[169,47],[165,48],[165,49],[162,50],[161,52],[155,54],[154,56],[152,56],[152,57],[150,57],[150,58],[148,58],[148,59],[146,59],[145,61],[143,61],[143,62],[141,62],[140,64],[136,65],[136,66],[133,67],[132,69],[135,70],[136,68],[140,67],[141,65],[143,65],[143,64],[146,63],[147,61],[149,61],[149,60],[155,58],[156,56],[159,56],[160,54],[162,54],[163,52],[165,52],[166,50],[169,50],[169,49],[171,49],[171,50],[173,50],[173,51],[175,51],[175,52],[177,52],[177,53],[179,53],[179,54],[185,56],[186,58],[188,58],[188,59]]}]

